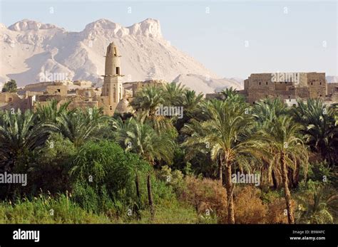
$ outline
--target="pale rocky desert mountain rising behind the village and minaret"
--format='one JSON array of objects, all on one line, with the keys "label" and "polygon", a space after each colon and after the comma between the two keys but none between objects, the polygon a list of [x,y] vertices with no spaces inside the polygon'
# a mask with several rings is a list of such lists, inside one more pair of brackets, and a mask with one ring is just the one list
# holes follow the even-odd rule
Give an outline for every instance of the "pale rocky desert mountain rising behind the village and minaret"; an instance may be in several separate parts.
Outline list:
[{"label": "pale rocky desert mountain rising behind the village and minaret", "polygon": [[[146,19],[133,26],[100,19],[83,31],[66,31],[53,24],[22,20],[8,28],[0,23],[0,83],[9,78],[19,86],[45,80],[91,80],[102,83],[106,47],[114,41],[121,53],[125,80],[180,80],[198,92],[237,85],[219,78],[162,36],[160,23]],[[194,75],[191,77],[190,75]],[[212,80],[205,81],[208,75]],[[188,78],[184,81],[181,79]],[[196,79],[194,82],[192,79]]]}]

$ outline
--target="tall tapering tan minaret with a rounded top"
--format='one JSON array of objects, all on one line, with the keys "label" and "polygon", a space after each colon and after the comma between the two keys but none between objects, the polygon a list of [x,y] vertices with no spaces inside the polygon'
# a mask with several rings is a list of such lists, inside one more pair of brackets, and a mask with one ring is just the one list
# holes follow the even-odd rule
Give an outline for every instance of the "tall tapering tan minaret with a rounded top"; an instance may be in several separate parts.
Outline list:
[{"label": "tall tapering tan minaret with a rounded top", "polygon": [[105,105],[106,114],[113,115],[116,105],[123,98],[121,75],[121,62],[118,48],[112,42],[107,47],[105,75],[103,75],[102,96],[108,97],[108,107]]}]

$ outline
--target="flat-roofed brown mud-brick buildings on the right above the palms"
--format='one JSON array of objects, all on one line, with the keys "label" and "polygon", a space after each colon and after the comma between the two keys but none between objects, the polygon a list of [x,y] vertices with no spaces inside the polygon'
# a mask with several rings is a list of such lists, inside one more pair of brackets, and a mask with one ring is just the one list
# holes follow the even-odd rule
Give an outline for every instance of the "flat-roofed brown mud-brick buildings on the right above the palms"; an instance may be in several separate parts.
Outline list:
[{"label": "flat-roofed brown mud-brick buildings on the right above the palms", "polygon": [[[237,93],[250,104],[265,98],[280,98],[289,106],[309,98],[322,98],[331,104],[338,100],[337,84],[327,83],[325,73],[253,73],[244,80],[244,90]],[[222,94],[207,94],[205,98],[220,99]]]}]

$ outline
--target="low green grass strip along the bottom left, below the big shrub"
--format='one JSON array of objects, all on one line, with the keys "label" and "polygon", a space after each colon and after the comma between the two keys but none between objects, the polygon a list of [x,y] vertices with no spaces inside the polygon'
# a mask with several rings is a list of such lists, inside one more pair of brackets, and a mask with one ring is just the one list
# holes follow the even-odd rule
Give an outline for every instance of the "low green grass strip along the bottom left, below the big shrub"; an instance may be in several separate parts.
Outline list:
[{"label": "low green grass strip along the bottom left, below the big shrub", "polygon": [[[32,199],[24,198],[0,203],[0,224],[196,224],[212,223],[201,221],[193,206],[177,200],[163,200],[155,206],[155,219],[145,207],[140,210],[140,219],[135,214],[116,214],[111,208],[101,214],[81,208],[66,194],[51,198],[40,195]],[[53,211],[51,211],[53,210]],[[53,214],[51,214],[53,212]]]}]

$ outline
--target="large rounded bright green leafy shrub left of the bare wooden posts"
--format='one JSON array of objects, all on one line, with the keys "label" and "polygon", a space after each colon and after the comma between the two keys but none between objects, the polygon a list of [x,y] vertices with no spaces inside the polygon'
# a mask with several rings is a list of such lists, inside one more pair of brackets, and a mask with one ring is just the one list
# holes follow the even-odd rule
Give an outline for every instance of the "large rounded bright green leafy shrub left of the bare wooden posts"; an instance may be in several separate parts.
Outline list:
[{"label": "large rounded bright green leafy shrub left of the bare wooden posts", "polygon": [[145,177],[149,169],[148,163],[137,154],[124,152],[115,142],[86,142],[76,154],[70,170],[76,184],[74,199],[88,211],[110,211],[110,214],[118,216],[125,210],[112,210],[116,201],[123,202],[125,208],[134,208],[138,201],[136,176],[143,192],[141,201],[146,200]]}]

